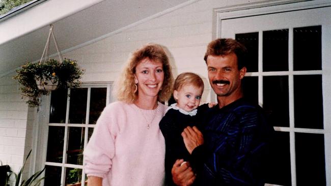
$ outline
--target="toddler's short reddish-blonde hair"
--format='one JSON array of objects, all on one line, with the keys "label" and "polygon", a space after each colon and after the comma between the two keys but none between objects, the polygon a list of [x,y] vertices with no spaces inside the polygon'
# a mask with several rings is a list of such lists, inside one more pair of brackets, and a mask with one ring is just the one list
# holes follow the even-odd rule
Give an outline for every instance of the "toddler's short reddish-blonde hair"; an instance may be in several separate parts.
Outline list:
[{"label": "toddler's short reddish-blonde hair", "polygon": [[204,83],[198,74],[191,72],[184,72],[177,76],[174,84],[174,90],[179,91],[184,85],[191,84],[196,87],[202,87],[204,89]]}]

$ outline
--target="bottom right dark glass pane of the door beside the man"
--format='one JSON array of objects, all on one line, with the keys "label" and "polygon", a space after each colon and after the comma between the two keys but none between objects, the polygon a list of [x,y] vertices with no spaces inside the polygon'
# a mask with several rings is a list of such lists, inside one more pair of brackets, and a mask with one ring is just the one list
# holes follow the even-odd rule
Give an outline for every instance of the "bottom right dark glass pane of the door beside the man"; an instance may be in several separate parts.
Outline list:
[{"label": "bottom right dark glass pane of the door beside the man", "polygon": [[295,133],[297,185],[326,185],[324,135]]}]

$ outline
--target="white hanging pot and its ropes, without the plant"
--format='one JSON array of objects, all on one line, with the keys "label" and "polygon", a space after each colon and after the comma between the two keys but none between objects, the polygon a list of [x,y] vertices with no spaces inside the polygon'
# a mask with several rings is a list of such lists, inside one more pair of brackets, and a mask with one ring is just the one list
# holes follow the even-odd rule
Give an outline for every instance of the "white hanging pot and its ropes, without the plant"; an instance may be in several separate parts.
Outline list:
[{"label": "white hanging pot and its ropes, without the plant", "polygon": [[[62,63],[63,57],[62,57],[61,51],[59,50],[57,40],[55,39],[55,36],[54,36],[53,25],[52,24],[50,24],[48,38],[47,38],[46,45],[45,45],[43,54],[41,55],[41,58],[40,58],[40,62],[39,63],[45,63],[46,60],[49,60],[49,55],[48,55],[49,50],[48,49],[49,49],[50,36],[53,37],[55,47],[56,47],[56,49],[58,51],[58,55],[59,55],[59,59],[60,59],[60,62],[59,63]],[[36,78],[37,87],[39,89],[43,89],[43,90],[55,90],[58,87],[59,79],[53,73],[49,73],[49,76],[48,77],[43,75],[43,76],[36,76],[35,78]]]}]

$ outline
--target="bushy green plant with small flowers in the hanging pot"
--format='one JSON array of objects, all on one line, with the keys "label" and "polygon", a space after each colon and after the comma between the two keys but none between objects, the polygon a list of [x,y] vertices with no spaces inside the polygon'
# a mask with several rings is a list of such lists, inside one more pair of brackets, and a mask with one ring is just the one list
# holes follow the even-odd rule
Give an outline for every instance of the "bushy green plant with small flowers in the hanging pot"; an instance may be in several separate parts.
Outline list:
[{"label": "bushy green plant with small flowers in the hanging pot", "polygon": [[48,95],[50,90],[79,87],[83,71],[75,60],[48,59],[21,66],[13,78],[22,85],[22,98],[29,98],[26,103],[30,107],[37,107],[40,104],[39,97]]}]

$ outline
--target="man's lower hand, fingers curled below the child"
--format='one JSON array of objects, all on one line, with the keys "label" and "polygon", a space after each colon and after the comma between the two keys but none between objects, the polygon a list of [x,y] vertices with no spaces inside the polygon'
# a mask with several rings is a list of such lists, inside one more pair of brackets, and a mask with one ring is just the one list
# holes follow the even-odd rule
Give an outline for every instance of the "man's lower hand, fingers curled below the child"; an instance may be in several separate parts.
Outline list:
[{"label": "man's lower hand, fingers curled below the child", "polygon": [[171,169],[171,174],[173,175],[173,181],[176,185],[188,186],[194,182],[196,176],[189,166],[189,163],[186,162],[183,164],[183,162],[184,160],[176,160]]}]

